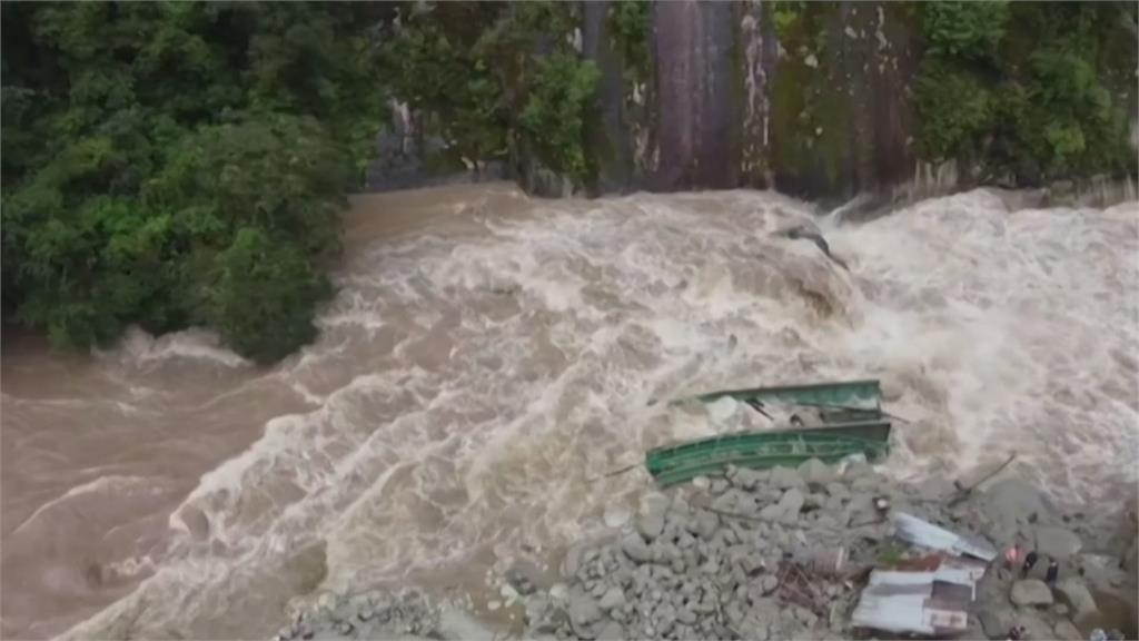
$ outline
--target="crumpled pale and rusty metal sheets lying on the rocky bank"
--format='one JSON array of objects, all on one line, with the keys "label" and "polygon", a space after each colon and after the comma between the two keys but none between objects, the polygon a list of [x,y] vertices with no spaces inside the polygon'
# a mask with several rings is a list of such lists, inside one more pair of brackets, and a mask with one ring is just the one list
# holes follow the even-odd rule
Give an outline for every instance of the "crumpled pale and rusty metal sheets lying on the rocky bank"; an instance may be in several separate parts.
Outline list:
[{"label": "crumpled pale and rusty metal sheets lying on the rocky bank", "polygon": [[859,597],[852,625],[937,636],[964,633],[977,582],[997,550],[910,514],[896,512],[891,521],[899,538],[933,552],[875,568]]}]

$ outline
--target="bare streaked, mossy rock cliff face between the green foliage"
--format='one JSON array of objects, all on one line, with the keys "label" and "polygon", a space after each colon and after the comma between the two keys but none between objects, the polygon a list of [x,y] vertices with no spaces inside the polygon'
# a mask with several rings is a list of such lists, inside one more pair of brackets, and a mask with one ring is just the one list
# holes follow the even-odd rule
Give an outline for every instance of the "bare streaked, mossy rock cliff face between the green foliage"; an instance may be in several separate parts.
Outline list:
[{"label": "bare streaked, mossy rock cliff face between the green foliage", "polygon": [[[600,163],[603,190],[744,186],[847,196],[912,172],[912,18],[904,7],[800,6],[777,30],[771,3],[654,5],[654,147],[632,144],[629,117],[614,108],[628,75],[595,35],[604,21],[589,16],[604,6],[587,7],[583,54],[604,76],[597,148],[636,152]],[[626,82],[621,102],[633,92]]]}]

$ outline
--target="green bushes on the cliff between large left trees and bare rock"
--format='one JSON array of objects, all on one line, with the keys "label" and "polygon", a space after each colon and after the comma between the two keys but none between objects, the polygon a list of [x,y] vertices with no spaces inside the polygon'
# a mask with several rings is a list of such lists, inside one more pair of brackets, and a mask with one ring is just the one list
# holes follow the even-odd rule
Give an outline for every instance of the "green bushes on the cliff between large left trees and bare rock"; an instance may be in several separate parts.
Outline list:
[{"label": "green bushes on the cliff between large left trees and bare rock", "polygon": [[393,94],[475,163],[533,149],[579,185],[590,179],[585,120],[598,73],[571,36],[570,2],[440,2],[410,11],[388,47]]}]

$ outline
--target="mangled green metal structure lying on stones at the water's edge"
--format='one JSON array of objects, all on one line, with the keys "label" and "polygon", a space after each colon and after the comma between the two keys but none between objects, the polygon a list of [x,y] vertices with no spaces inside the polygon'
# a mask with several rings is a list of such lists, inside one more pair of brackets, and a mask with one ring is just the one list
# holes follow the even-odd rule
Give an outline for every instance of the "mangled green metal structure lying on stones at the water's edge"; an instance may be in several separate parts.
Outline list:
[{"label": "mangled green metal structure lying on stones at the water's edge", "polygon": [[882,411],[876,380],[726,390],[695,399],[714,403],[724,397],[757,411],[771,404],[812,407],[822,424],[722,435],[650,449],[645,464],[659,485],[721,474],[728,465],[796,466],[810,459],[834,463],[852,454],[875,461],[890,453],[891,423]]}]

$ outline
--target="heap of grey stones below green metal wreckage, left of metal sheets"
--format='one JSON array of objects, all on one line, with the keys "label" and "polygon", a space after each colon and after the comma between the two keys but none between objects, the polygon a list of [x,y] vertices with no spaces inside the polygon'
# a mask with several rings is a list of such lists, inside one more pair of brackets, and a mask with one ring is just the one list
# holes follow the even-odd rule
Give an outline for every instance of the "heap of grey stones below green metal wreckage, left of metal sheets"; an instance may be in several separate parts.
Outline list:
[{"label": "heap of grey stones below green metal wreckage, left of metal sheets", "polygon": [[572,549],[563,582],[528,599],[528,635],[843,636],[857,599],[850,570],[891,545],[886,510],[923,512],[926,498],[866,463],[839,471],[817,460],[646,494],[616,536]]}]

